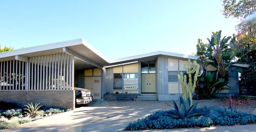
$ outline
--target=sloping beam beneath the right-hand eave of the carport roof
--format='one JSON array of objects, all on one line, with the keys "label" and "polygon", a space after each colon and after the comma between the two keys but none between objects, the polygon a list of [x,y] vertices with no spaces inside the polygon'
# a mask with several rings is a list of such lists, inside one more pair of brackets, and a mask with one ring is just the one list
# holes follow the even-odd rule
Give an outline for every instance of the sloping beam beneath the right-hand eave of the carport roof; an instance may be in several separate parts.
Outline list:
[{"label": "sloping beam beneath the right-hand eave of the carport roof", "polygon": [[97,63],[95,63],[95,62],[93,62],[93,61],[91,61],[91,60],[85,58],[85,57],[82,56],[81,54],[76,53],[75,51],[73,51],[73,50],[71,50],[71,49],[69,49],[69,48],[67,48],[67,47],[62,47],[62,51],[65,52],[65,53],[67,53],[67,54],[71,54],[71,55],[73,55],[74,57],[76,57],[76,58],[78,58],[78,59],[80,59],[80,60],[82,60],[82,61],[84,61],[84,62],[86,62],[86,63],[88,63],[88,64],[90,64],[90,65],[92,65],[92,66],[95,66],[95,67],[98,67],[98,68],[103,68],[103,66],[101,66],[101,65],[99,65],[99,64],[97,64]]}]

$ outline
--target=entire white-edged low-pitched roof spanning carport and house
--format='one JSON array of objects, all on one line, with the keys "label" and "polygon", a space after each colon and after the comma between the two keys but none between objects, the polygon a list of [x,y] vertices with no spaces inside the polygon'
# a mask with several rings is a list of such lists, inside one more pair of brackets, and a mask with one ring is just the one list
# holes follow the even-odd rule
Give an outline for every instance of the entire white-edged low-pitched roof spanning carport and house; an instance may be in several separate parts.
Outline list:
[{"label": "entire white-edged low-pitched roof spanning carport and house", "polygon": [[181,58],[181,59],[182,58],[193,59],[193,60],[197,59],[197,57],[194,55],[157,51],[157,52],[134,55],[131,57],[114,59],[110,61],[106,57],[104,57],[104,55],[101,54],[98,50],[96,50],[93,46],[88,44],[86,40],[80,38],[80,39],[61,41],[57,43],[20,48],[18,50],[2,52],[0,53],[0,60],[14,58],[15,55],[23,55],[24,57],[36,57],[36,56],[41,56],[46,54],[61,53],[63,47],[67,47],[72,51],[82,55],[83,57],[93,62],[96,62],[97,64],[100,64],[102,66],[123,64],[131,61],[147,61],[147,60],[156,59],[158,55],[166,55],[168,57]]}]

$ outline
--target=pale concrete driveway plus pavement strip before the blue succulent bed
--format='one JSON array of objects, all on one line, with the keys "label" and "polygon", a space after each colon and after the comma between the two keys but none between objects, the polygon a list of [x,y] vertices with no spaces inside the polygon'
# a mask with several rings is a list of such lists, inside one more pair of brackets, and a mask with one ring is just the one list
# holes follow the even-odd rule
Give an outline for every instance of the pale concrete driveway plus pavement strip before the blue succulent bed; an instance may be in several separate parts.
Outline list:
[{"label": "pale concrete driveway plus pavement strip before the blue succulent bed", "polygon": [[[4,131],[121,131],[133,120],[157,110],[170,109],[170,101],[94,101],[71,112],[46,117]],[[255,131],[256,125],[200,129],[145,131]]]}]

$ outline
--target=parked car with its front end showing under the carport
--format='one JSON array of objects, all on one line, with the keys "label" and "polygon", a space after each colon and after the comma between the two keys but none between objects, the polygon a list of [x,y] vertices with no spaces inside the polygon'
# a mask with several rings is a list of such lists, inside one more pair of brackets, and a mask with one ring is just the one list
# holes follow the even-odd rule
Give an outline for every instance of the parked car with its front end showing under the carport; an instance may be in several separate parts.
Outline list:
[{"label": "parked car with its front end showing under the carport", "polygon": [[89,89],[74,88],[76,105],[86,104],[92,102],[92,95]]}]

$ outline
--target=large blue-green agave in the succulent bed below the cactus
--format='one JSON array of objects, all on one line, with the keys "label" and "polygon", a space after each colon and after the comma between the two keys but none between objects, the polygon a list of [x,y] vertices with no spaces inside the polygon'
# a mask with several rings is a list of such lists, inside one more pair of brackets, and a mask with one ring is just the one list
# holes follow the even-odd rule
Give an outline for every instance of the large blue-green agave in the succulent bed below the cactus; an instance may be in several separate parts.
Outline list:
[{"label": "large blue-green agave in the succulent bed below the cactus", "polygon": [[174,110],[171,110],[167,116],[170,116],[174,119],[188,119],[193,116],[199,116],[201,113],[196,113],[197,102],[194,105],[191,105],[190,98],[183,99],[182,96],[178,99],[178,105],[175,101],[172,101],[174,104]]}]

